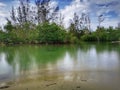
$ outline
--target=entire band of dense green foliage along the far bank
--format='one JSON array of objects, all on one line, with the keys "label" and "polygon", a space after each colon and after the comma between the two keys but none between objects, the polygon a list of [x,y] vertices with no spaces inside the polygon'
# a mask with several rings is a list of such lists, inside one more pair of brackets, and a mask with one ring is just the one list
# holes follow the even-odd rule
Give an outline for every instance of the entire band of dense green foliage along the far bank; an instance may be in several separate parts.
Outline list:
[{"label": "entire band of dense green foliage along the far bank", "polygon": [[77,32],[72,28],[67,31],[55,23],[40,24],[32,30],[27,29],[26,25],[24,27],[14,27],[8,23],[5,28],[6,31],[0,30],[0,43],[4,44],[63,44],[79,43],[80,41],[120,41],[120,29],[112,27],[98,28],[94,32],[89,32],[88,30]]}]

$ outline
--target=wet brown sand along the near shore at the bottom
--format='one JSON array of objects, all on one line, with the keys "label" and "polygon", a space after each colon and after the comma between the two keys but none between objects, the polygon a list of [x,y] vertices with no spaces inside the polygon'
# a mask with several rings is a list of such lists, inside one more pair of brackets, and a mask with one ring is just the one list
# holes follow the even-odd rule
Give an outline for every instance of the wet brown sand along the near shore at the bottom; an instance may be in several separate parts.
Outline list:
[{"label": "wet brown sand along the near shore at the bottom", "polygon": [[74,73],[75,76],[71,74],[64,77],[63,73],[54,73],[49,76],[45,74],[41,77],[27,77],[1,83],[3,88],[0,90],[120,90],[119,82],[104,83],[104,80],[97,81],[96,78],[90,79],[87,76],[79,78],[80,74],[77,72]]}]

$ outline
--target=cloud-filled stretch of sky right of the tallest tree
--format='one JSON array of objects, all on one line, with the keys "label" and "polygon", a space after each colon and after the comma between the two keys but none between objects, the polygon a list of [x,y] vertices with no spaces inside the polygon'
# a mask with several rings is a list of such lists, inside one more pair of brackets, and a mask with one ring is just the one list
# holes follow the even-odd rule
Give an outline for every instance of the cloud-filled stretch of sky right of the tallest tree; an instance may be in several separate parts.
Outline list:
[{"label": "cloud-filled stretch of sky right of the tallest tree", "polygon": [[[104,6],[104,4],[109,6]],[[61,13],[65,16],[65,27],[69,26],[69,20],[73,18],[75,12],[79,15],[82,12],[89,13],[91,18],[91,27],[95,30],[98,26],[98,16],[101,14],[106,14],[110,11],[114,11],[120,15],[119,0],[83,0],[83,2],[80,2],[80,0],[73,0],[70,5],[65,6],[65,8],[61,10]],[[104,17],[105,21],[102,23],[103,26],[117,26],[117,23],[119,22],[118,17],[114,17],[117,19],[110,19],[111,15],[105,15]]]}]

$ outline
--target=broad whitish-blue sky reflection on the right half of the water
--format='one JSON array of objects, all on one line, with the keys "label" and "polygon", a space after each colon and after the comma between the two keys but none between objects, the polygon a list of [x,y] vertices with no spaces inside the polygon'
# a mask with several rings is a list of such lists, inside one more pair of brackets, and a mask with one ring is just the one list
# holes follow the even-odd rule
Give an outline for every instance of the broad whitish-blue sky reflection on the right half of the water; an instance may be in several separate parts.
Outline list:
[{"label": "broad whitish-blue sky reflection on the right half of the water", "polygon": [[[76,59],[77,57],[77,59]],[[77,55],[71,57],[66,52],[62,60],[58,60],[58,69],[64,70],[80,70],[80,71],[109,71],[119,69],[119,57],[114,51],[97,53],[95,48],[91,48],[87,52],[78,49]]]}]

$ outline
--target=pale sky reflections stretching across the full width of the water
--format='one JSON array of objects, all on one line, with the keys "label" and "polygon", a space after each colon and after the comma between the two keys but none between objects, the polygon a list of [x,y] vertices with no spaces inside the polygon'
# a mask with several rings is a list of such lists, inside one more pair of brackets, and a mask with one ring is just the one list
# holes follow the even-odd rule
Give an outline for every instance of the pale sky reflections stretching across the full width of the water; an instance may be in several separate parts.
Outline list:
[{"label": "pale sky reflections stretching across the full width of the water", "polygon": [[[46,62],[44,66],[40,66],[37,62],[37,57],[33,55],[28,55],[30,58],[27,70],[24,70],[21,64],[22,57],[19,53],[14,56],[13,64],[10,66],[6,60],[6,54],[0,54],[0,78],[1,75],[10,75],[13,73],[15,76],[26,75],[27,77],[35,77],[39,72],[46,70],[45,72],[49,74],[54,74],[54,71],[62,73],[64,72],[64,79],[73,78],[84,78],[89,77],[89,75],[94,75],[92,72],[96,73],[98,71],[120,71],[120,61],[119,54],[116,51],[97,52],[95,47],[91,47],[89,50],[83,51],[82,48],[76,50],[76,52],[71,53],[66,51],[63,57],[59,57],[56,63]],[[25,62],[26,63],[26,62]],[[22,63],[22,64],[25,64]],[[25,64],[26,65],[26,64]],[[12,68],[13,67],[13,68]],[[12,70],[13,69],[13,70]],[[91,73],[73,73],[72,71],[84,71]],[[97,73],[98,74],[98,73]],[[104,75],[103,73],[99,73]],[[105,74],[107,77],[108,73]],[[104,76],[103,76],[104,77]]]}]

